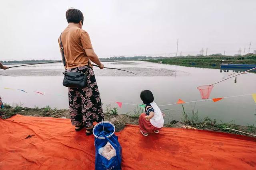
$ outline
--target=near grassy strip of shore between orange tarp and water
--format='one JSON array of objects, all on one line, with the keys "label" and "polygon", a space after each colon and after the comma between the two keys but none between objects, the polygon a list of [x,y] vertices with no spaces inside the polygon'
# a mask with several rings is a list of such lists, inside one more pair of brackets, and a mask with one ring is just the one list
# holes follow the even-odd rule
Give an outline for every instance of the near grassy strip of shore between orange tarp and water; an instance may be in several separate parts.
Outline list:
[{"label": "near grassy strip of shore between orange tarp and water", "polygon": [[[219,131],[246,136],[250,135],[247,135],[245,133],[256,135],[256,127],[254,125],[241,126],[234,124],[232,121],[229,123],[216,123],[215,119],[212,120],[208,117],[206,117],[203,120],[200,120],[198,118],[198,111],[194,110],[192,111],[192,113],[187,113],[185,110],[186,109],[184,109],[183,107],[183,118],[180,121],[170,120],[169,118],[171,113],[166,114],[166,118],[168,119],[168,121],[165,122],[164,126],[186,129],[203,129],[209,131]],[[116,131],[122,130],[126,124],[138,125],[138,118],[140,113],[142,113],[142,108],[136,107],[133,113],[118,114],[118,108],[112,108],[110,105],[106,106],[104,111],[105,121],[111,121],[112,123],[114,123]],[[70,118],[68,110],[52,109],[49,106],[46,106],[44,108],[38,108],[36,106],[34,108],[28,108],[19,105],[16,105],[14,107],[5,105],[4,109],[0,109],[0,117],[2,119],[8,119],[16,114],[39,117]],[[231,129],[235,129],[245,133],[240,133]]]}]

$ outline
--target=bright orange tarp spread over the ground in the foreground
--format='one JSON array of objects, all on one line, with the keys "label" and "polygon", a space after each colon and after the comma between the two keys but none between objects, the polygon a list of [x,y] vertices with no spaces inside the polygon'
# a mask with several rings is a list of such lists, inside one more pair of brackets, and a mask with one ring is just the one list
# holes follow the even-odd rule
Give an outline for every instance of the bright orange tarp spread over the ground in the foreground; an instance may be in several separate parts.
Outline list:
[{"label": "bright orange tarp spread over the ground in the foreground", "polygon": [[[94,137],[84,133],[70,119],[0,119],[0,170],[93,170]],[[144,137],[134,125],[116,135],[123,170],[256,169],[252,137],[176,128]]]}]

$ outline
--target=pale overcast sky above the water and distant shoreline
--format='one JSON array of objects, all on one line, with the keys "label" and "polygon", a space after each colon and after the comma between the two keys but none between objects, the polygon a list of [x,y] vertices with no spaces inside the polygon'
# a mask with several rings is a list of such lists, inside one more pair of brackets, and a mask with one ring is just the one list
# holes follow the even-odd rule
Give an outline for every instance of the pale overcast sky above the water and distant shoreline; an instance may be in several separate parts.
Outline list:
[{"label": "pale overcast sky above the water and distant shoreline", "polygon": [[1,0],[0,60],[61,59],[65,12],[84,14],[99,57],[256,50],[256,0]]}]

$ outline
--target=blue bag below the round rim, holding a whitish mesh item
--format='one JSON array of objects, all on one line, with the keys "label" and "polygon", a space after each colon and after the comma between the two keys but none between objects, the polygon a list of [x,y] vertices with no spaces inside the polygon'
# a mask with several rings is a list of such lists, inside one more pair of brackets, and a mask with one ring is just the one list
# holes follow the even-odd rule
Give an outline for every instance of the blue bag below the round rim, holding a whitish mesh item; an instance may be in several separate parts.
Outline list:
[{"label": "blue bag below the round rim, holding a whitish mesh item", "polygon": [[[122,148],[118,142],[118,137],[116,135],[112,135],[111,137],[107,138],[104,133],[98,136],[103,136],[104,139],[95,138],[94,141],[96,149],[95,170],[121,170]],[[112,147],[116,149],[116,156],[110,160],[99,154],[99,149],[104,147],[107,142],[109,142]]]}]

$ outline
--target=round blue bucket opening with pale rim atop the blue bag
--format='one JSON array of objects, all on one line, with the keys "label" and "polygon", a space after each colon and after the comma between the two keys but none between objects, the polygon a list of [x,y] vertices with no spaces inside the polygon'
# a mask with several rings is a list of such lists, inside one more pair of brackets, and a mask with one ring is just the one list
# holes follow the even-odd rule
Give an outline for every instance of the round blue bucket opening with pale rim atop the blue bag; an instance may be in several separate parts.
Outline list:
[{"label": "round blue bucket opening with pale rim atop the blue bag", "polygon": [[92,133],[95,138],[105,139],[103,135],[101,135],[102,133],[104,133],[106,137],[109,138],[112,135],[114,135],[115,130],[116,130],[116,127],[113,123],[109,121],[103,121],[94,126],[94,128],[92,129]]}]

